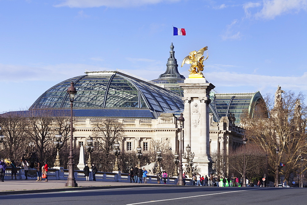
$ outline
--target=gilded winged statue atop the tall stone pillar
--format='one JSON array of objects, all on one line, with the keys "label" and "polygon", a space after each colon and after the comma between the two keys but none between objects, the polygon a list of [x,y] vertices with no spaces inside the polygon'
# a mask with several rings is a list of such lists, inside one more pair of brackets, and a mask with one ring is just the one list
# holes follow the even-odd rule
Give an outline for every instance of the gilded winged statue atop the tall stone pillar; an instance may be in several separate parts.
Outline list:
[{"label": "gilded winged statue atop the tall stone pillar", "polygon": [[190,69],[188,70],[190,74],[199,74],[203,75],[202,71],[204,70],[204,60],[208,59],[208,51],[207,58],[204,59],[204,51],[208,50],[208,46],[201,48],[198,52],[192,51],[189,56],[186,56],[181,64],[181,67],[186,64],[191,64]]}]

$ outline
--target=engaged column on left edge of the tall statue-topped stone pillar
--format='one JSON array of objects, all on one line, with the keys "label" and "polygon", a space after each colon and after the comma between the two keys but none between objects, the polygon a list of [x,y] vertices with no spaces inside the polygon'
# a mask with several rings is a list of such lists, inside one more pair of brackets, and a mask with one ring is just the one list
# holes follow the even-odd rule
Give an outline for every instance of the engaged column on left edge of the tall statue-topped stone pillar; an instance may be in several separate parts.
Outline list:
[{"label": "engaged column on left edge of the tall statue-topped stone pillar", "polygon": [[[184,132],[184,143],[182,147],[185,145],[191,145],[191,98],[183,97],[182,100],[185,103],[184,117],[185,117],[185,132]],[[184,150],[184,149],[182,149]]]}]

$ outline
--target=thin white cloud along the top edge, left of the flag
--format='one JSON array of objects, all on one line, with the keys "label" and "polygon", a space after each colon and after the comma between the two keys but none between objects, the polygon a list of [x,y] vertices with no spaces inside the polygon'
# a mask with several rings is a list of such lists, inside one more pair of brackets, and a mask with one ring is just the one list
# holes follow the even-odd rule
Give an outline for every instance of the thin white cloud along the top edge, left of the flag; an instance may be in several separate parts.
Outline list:
[{"label": "thin white cloud along the top edge, left of the flag", "polygon": [[147,4],[157,4],[161,2],[178,2],[180,0],[61,0],[56,7],[68,6],[71,8],[90,8],[90,7],[134,7]]}]

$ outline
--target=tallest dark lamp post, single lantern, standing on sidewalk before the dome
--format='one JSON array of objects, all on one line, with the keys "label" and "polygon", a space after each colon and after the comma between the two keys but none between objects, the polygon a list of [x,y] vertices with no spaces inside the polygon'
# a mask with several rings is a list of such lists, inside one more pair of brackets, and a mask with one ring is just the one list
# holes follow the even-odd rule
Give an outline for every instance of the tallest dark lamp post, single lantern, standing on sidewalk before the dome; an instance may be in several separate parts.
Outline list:
[{"label": "tallest dark lamp post, single lantern, standing on sidewalk before the dome", "polygon": [[76,88],[74,87],[74,82],[70,83],[70,87],[67,90],[70,100],[70,149],[68,157],[68,178],[65,183],[65,187],[77,187],[75,173],[74,173],[74,157],[72,155],[72,105],[74,102],[75,95],[77,93]]}]

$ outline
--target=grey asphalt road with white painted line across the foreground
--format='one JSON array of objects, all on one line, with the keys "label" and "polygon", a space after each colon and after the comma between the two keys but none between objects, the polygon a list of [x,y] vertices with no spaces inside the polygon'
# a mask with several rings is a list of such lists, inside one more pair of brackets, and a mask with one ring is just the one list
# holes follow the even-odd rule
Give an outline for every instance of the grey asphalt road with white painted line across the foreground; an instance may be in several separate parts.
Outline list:
[{"label": "grey asphalt road with white painted line across the foreground", "polygon": [[2,195],[0,204],[306,204],[306,188],[133,187]]}]

